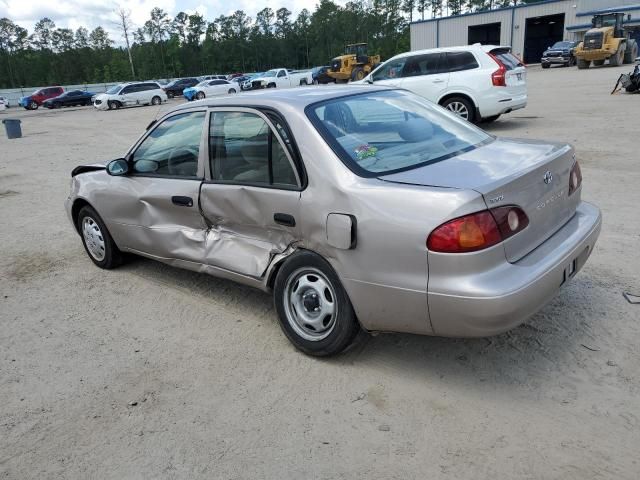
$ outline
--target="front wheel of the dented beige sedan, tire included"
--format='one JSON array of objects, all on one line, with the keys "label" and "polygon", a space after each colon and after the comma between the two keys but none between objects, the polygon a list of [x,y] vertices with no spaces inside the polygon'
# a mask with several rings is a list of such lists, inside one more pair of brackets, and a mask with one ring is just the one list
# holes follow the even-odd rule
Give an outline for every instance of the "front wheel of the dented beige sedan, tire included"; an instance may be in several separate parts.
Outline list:
[{"label": "front wheel of the dented beige sedan, tire included", "polygon": [[88,205],[78,213],[78,231],[84,249],[98,267],[111,269],[122,263],[122,253],[111,238],[109,230],[98,212]]}]

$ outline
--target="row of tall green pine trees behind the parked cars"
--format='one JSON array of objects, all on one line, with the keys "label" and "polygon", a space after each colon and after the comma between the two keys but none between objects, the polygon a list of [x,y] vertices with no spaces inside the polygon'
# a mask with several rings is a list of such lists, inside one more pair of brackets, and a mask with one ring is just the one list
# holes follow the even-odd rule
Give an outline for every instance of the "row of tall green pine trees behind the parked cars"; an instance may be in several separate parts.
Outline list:
[{"label": "row of tall green pine trees behind the parked cars", "polygon": [[[0,88],[173,78],[326,65],[349,43],[367,42],[383,59],[409,49],[412,21],[490,10],[540,0],[320,0],[294,18],[266,7],[255,18],[242,10],[207,21],[196,13],[171,18],[153,8],[135,26],[120,8],[107,30],[60,28],[49,18],[33,32],[0,19]],[[122,42],[120,42],[122,40]],[[466,39],[461,39],[464,43]]]}]

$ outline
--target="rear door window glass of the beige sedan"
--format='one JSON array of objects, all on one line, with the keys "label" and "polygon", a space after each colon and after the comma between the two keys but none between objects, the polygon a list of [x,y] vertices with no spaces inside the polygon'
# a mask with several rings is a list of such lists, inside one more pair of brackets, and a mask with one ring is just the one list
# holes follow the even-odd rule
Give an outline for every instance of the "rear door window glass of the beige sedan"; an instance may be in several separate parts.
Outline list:
[{"label": "rear door window glass of the beige sedan", "polygon": [[298,186],[284,147],[259,115],[213,113],[209,146],[211,172],[217,181],[280,188]]}]

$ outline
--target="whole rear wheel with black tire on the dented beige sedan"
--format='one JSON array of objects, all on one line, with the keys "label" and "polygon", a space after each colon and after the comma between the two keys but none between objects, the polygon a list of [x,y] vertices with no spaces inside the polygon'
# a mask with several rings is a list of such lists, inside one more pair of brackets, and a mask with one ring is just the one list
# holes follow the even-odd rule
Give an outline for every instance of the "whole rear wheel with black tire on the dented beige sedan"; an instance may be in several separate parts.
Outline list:
[{"label": "whole rear wheel with black tire on the dented beige sedan", "polygon": [[[314,276],[315,282],[313,282]],[[301,286],[303,278],[310,286],[304,290],[304,294],[301,291],[304,288]],[[320,291],[316,291],[314,285],[318,285]],[[319,299],[318,294],[320,294]],[[308,299],[308,296],[313,299]],[[309,338],[309,336],[313,337],[314,329],[309,325],[300,325],[300,323],[304,324],[304,319],[296,315],[295,307],[291,306],[293,300],[290,300],[294,297],[305,298],[304,303],[299,304],[305,309],[305,315],[309,314],[307,300],[317,302],[317,308],[321,309],[316,318],[320,319],[321,328],[327,328],[327,330],[317,332],[315,339]],[[353,306],[338,275],[326,260],[315,253],[300,251],[285,260],[276,277],[273,299],[282,331],[296,348],[308,355],[324,357],[338,354],[353,342],[360,331],[360,324],[356,319]],[[321,318],[322,309],[325,308],[331,308],[334,312],[328,315],[328,319],[327,316]],[[311,315],[315,315],[313,305],[311,309]]]}]

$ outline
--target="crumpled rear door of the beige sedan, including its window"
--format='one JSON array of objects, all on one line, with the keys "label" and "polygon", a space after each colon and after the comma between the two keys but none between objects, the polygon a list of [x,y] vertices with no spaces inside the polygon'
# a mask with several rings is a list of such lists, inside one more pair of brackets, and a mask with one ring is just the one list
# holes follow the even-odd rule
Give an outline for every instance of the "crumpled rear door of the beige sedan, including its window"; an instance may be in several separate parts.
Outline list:
[{"label": "crumpled rear door of the beige sedan, including its window", "polygon": [[260,278],[299,240],[301,168],[283,122],[255,109],[209,118],[210,180],[200,191],[209,226],[205,263]]}]

